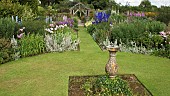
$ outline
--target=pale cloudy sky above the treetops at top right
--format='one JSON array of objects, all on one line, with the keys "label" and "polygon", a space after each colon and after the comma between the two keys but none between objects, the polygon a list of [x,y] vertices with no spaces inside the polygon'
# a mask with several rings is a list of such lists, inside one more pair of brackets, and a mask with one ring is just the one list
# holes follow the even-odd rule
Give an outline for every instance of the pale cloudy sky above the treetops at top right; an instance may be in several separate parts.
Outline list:
[{"label": "pale cloudy sky above the treetops at top right", "polygon": [[[122,5],[126,5],[127,2],[129,2],[129,4],[131,6],[138,6],[142,0],[115,0],[116,3],[121,3]],[[170,0],[149,0],[151,2],[152,5],[156,5],[158,7],[160,7],[161,5],[166,5],[166,6],[170,6]]]}]

